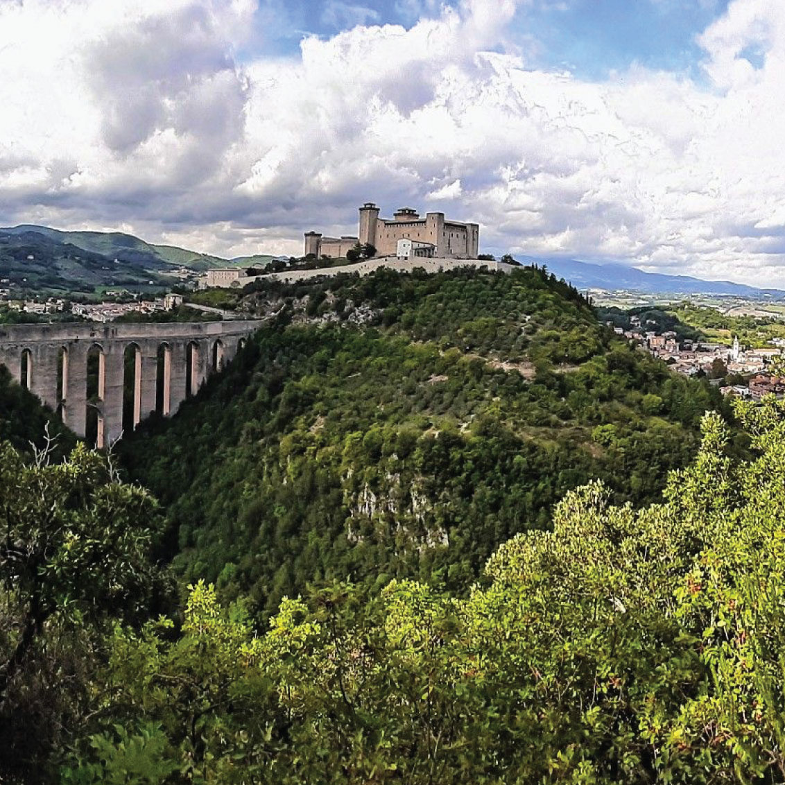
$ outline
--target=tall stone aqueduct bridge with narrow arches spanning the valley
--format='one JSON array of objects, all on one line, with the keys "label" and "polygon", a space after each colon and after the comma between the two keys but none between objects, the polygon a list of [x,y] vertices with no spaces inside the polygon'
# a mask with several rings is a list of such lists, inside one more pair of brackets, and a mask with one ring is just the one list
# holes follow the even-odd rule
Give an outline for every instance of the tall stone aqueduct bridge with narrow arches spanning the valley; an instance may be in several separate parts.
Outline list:
[{"label": "tall stone aqueduct bridge with narrow arches spanning the valley", "polygon": [[[95,407],[96,444],[104,447],[122,435],[127,350],[135,354],[136,427],[156,403],[164,416],[174,414],[259,327],[258,321],[0,325],[0,363],[42,403],[59,411],[77,436],[86,435],[87,408]],[[97,396],[88,400],[88,356],[96,354]]]}]

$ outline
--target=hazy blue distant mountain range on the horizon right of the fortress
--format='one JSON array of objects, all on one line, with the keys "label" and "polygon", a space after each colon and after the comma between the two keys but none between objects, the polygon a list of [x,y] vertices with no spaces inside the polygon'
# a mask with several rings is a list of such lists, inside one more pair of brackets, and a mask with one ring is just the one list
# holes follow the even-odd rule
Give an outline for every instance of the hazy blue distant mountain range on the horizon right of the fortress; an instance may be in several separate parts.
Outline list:
[{"label": "hazy blue distant mountain range on the horizon right of the fortress", "polygon": [[758,289],[732,281],[705,281],[690,276],[666,276],[643,272],[615,262],[592,264],[575,259],[537,259],[517,257],[525,265],[546,265],[557,278],[564,278],[579,289],[627,289],[648,294],[728,294],[750,298],[785,298],[779,289]]}]

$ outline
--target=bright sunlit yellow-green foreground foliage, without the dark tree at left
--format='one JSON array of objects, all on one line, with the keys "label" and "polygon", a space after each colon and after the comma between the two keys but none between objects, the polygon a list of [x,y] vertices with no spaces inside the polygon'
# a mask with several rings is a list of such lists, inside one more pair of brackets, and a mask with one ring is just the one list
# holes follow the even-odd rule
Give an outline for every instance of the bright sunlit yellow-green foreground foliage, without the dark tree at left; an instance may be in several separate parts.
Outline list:
[{"label": "bright sunlit yellow-green foreground foliage, without the dark tree at left", "polygon": [[257,634],[199,584],[174,640],[163,619],[118,626],[102,706],[115,727],[93,728],[64,777],[783,781],[785,403],[736,413],[753,460],[728,458],[707,414],[662,502],[571,492],[553,531],[507,542],[465,597],[334,586],[284,601]]}]

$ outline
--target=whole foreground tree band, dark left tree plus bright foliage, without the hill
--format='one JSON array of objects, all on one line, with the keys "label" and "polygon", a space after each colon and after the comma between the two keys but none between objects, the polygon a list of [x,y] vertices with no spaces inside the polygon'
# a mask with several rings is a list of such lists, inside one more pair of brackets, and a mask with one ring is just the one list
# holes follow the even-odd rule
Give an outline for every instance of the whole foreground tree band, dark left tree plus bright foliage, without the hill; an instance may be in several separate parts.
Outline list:
[{"label": "whole foreground tree band, dark left tree plus bright foliage, without the hill", "polygon": [[750,459],[707,414],[655,503],[569,491],[470,590],[330,582],[267,623],[178,603],[111,456],[4,442],[0,780],[780,782],[785,403],[736,416]]}]

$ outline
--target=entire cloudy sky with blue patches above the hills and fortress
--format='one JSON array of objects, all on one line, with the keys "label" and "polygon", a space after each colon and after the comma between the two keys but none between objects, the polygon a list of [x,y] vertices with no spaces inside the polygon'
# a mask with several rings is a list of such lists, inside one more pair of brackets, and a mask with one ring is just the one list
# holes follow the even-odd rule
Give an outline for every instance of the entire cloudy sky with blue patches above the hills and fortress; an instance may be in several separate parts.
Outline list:
[{"label": "entire cloudy sky with blue patches above the hills and fortress", "polygon": [[0,0],[0,225],[234,257],[357,207],[785,288],[783,0]]}]

